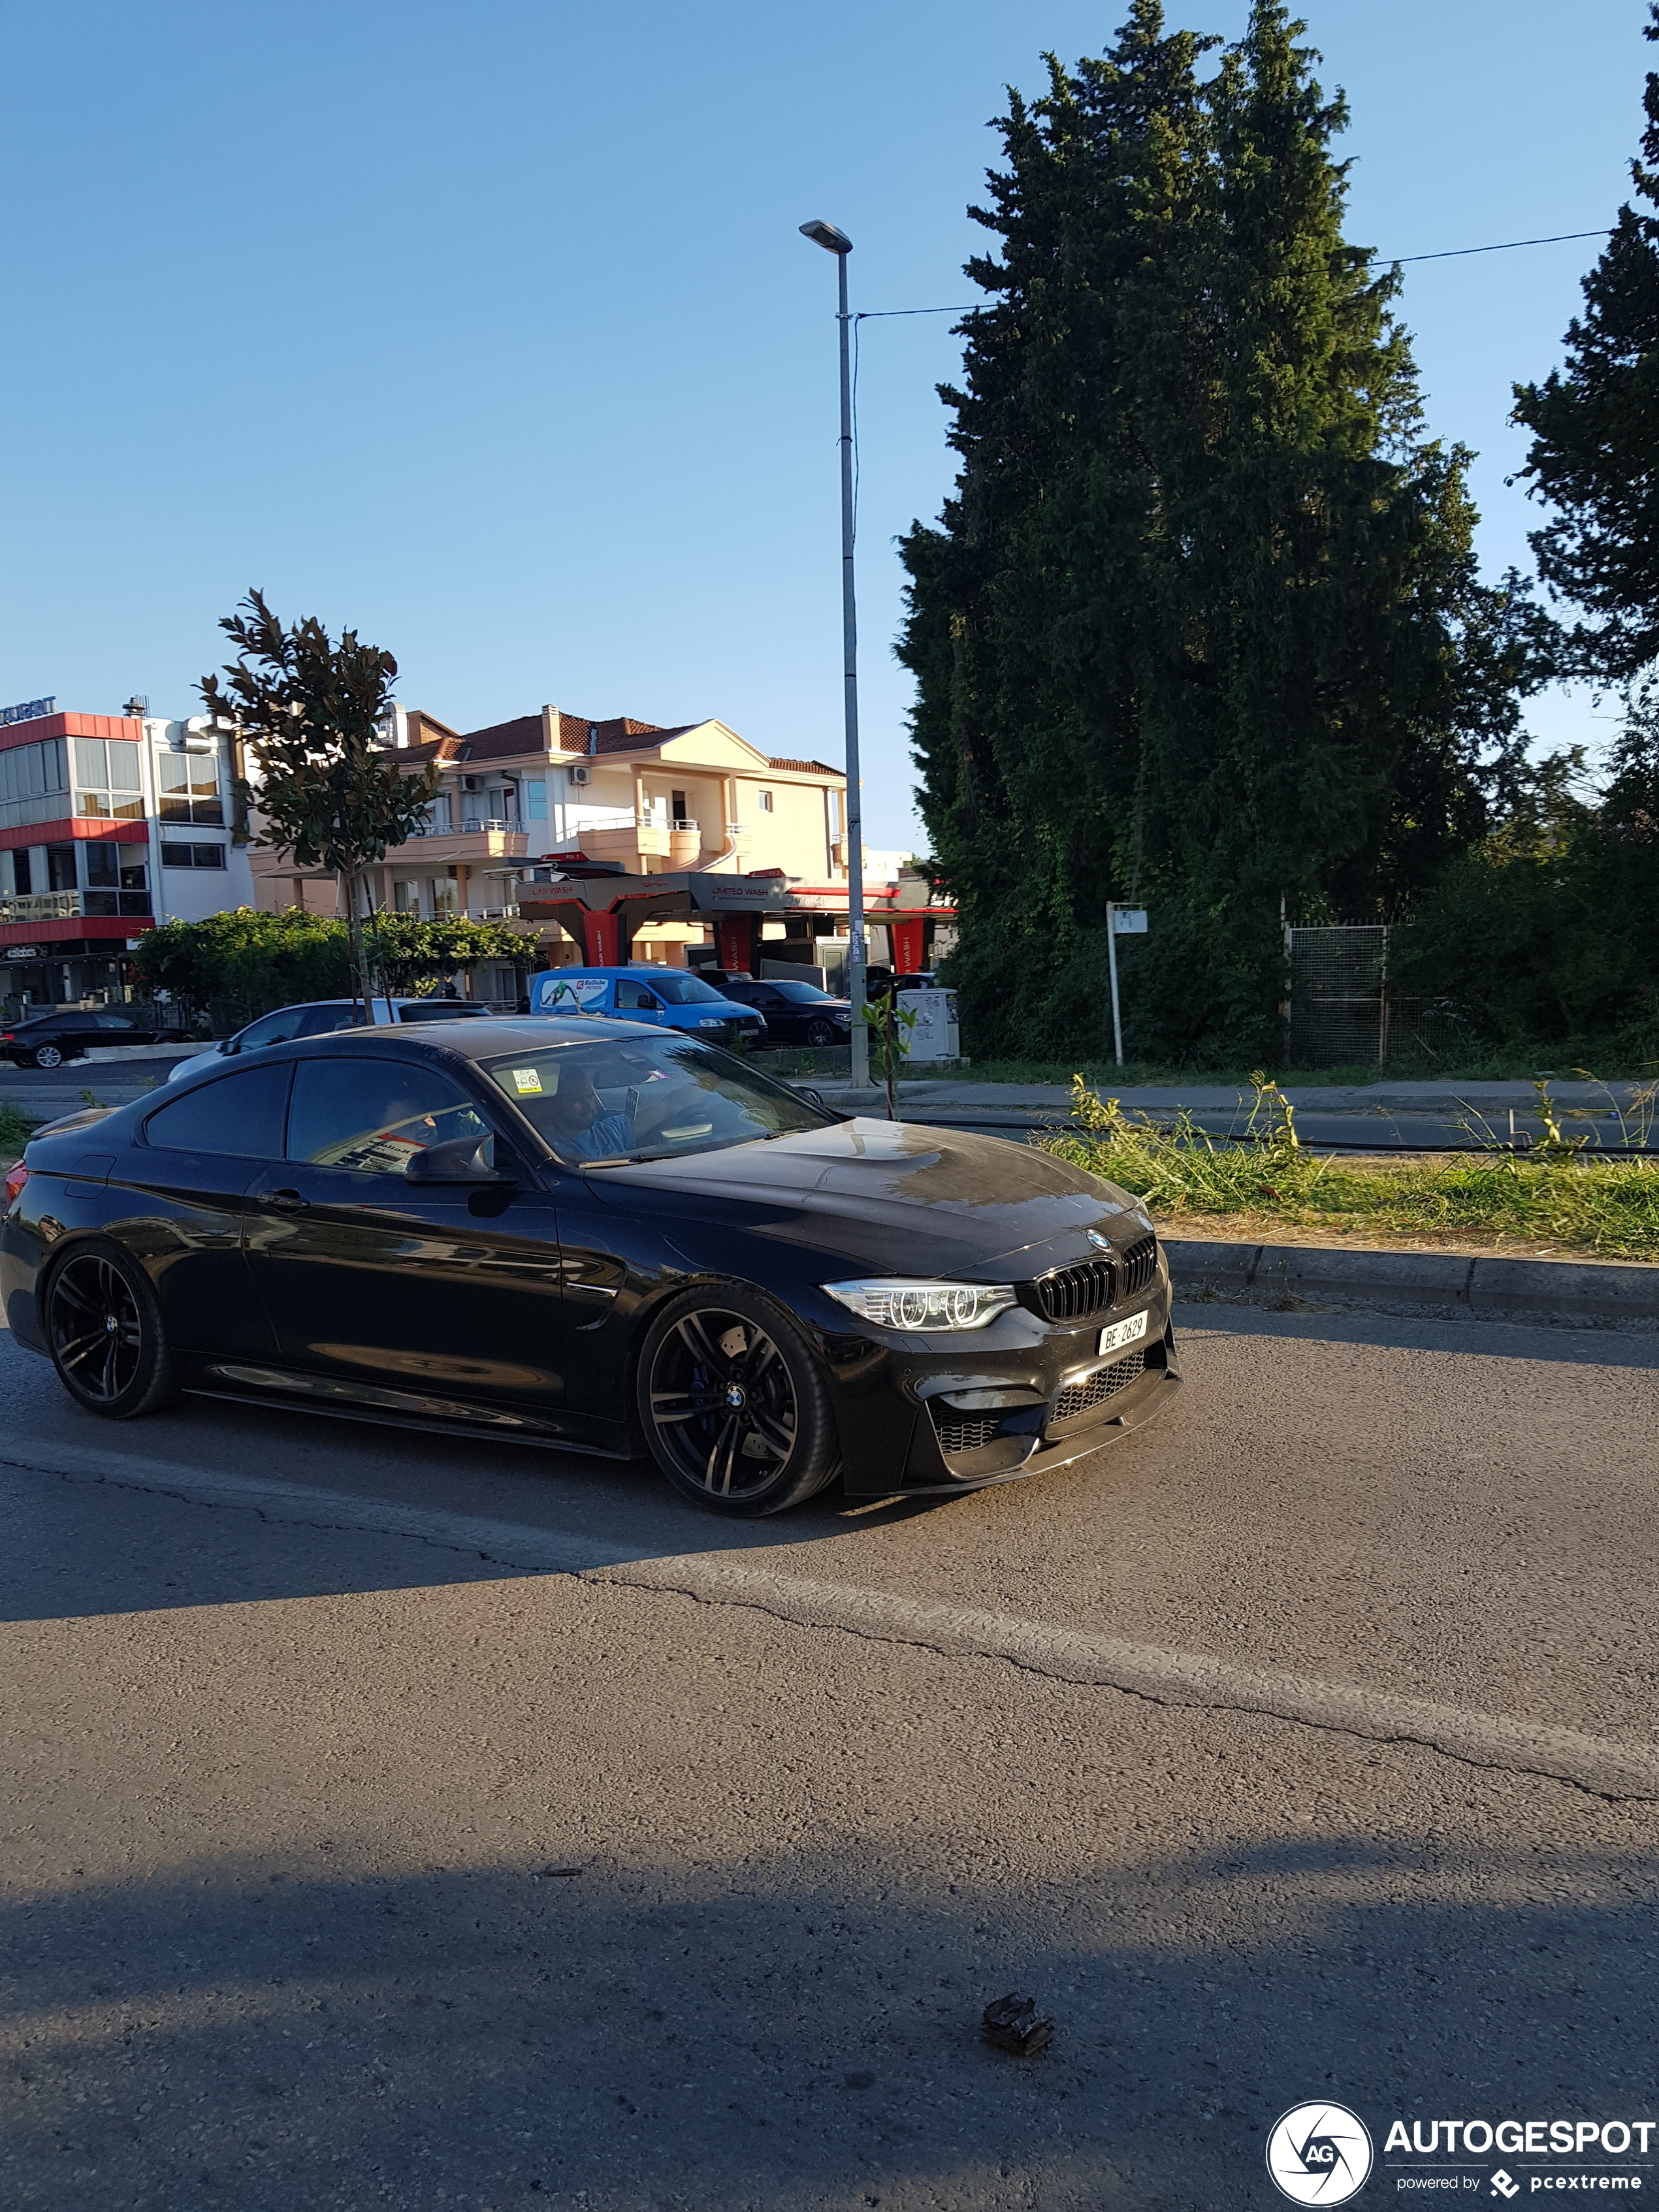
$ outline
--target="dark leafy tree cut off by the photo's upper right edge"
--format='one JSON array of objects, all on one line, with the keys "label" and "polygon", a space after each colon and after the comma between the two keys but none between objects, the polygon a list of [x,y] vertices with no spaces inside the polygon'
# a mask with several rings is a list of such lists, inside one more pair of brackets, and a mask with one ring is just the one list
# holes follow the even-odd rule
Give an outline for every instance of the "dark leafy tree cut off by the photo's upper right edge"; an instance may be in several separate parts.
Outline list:
[{"label": "dark leafy tree cut off by the photo's upper right edge", "polygon": [[[1659,40],[1659,4],[1648,15],[1646,38]],[[1659,73],[1644,108],[1630,179],[1659,208]],[[1568,635],[1571,661],[1630,681],[1659,661],[1659,217],[1619,208],[1584,279],[1566,365],[1515,385],[1515,420],[1533,431],[1520,473],[1555,509],[1533,533],[1540,575],[1588,617]]]}]

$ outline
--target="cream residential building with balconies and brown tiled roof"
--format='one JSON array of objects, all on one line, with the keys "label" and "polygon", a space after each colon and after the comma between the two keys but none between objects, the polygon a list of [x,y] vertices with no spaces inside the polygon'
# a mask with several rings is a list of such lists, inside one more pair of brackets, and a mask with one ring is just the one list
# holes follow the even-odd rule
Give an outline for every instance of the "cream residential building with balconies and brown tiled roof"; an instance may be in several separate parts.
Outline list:
[{"label": "cream residential building with balconies and brown tiled roof", "polygon": [[[765,754],[723,721],[659,728],[544,706],[460,732],[398,708],[392,743],[411,772],[440,776],[420,834],[369,872],[376,905],[394,911],[511,916],[522,880],[566,865],[845,880],[843,772]],[[254,883],[265,909],[334,911],[334,878],[276,854],[254,852]],[[661,925],[639,953],[684,960],[699,936]]]}]

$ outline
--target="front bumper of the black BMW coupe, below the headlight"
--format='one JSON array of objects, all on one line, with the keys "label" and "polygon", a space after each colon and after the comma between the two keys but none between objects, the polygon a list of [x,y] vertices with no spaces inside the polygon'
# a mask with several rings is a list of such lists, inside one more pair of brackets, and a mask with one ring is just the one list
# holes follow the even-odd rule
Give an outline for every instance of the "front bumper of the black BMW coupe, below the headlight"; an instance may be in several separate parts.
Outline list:
[{"label": "front bumper of the black BMW coupe, below the headlight", "polygon": [[[1102,1327],[1139,1312],[1146,1336],[1099,1354]],[[825,1352],[852,1498],[949,1495],[1040,1475],[1139,1429],[1181,1389],[1161,1263],[1146,1294],[1079,1327],[1020,1312],[962,1336],[836,1336]]]}]

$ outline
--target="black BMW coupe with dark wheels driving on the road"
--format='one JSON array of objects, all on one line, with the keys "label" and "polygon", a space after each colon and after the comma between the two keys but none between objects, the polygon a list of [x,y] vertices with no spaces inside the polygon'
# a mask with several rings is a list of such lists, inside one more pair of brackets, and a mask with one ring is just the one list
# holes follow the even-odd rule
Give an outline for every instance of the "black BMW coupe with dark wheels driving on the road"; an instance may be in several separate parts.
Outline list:
[{"label": "black BMW coupe with dark wheels driving on the road", "polygon": [[358,1029],[75,1115],[7,1179],[0,1294],[93,1413],[644,1447],[739,1515],[1062,1467],[1179,1385],[1121,1190],[624,1022]]}]

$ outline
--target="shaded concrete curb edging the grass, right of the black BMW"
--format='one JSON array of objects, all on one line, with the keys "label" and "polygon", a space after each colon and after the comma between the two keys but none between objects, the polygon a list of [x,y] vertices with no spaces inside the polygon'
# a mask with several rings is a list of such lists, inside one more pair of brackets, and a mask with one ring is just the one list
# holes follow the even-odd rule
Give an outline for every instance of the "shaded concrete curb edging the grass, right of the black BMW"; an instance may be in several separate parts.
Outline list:
[{"label": "shaded concrete curb edging the grass, right of the black BMW", "polygon": [[1480,1259],[1467,1252],[1354,1252],[1329,1245],[1206,1243],[1168,1237],[1177,1296],[1307,1298],[1440,1321],[1553,1321],[1577,1329],[1659,1329],[1659,1265]]}]

